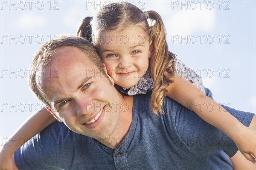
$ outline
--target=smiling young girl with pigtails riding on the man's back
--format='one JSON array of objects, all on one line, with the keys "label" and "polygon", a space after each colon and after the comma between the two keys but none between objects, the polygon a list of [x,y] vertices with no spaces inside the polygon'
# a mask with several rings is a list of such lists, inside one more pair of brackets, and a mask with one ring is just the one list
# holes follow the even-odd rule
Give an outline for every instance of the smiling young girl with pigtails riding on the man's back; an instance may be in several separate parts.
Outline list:
[{"label": "smiling young girl with pigtails riding on the man's back", "polygon": [[[230,136],[241,153],[255,162],[250,155],[256,156],[255,130],[242,125],[209,98],[208,89],[207,97],[201,78],[175,59],[168,50],[165,27],[157,12],[143,13],[127,2],[109,4],[93,18],[85,18],[78,35],[96,45],[108,74],[124,95],[152,91],[151,110],[156,115],[163,113],[163,99],[169,96]],[[54,121],[55,118],[43,109],[33,115],[12,139],[29,139],[28,136],[34,136]],[[22,144],[5,144],[3,153],[7,161]]]}]

